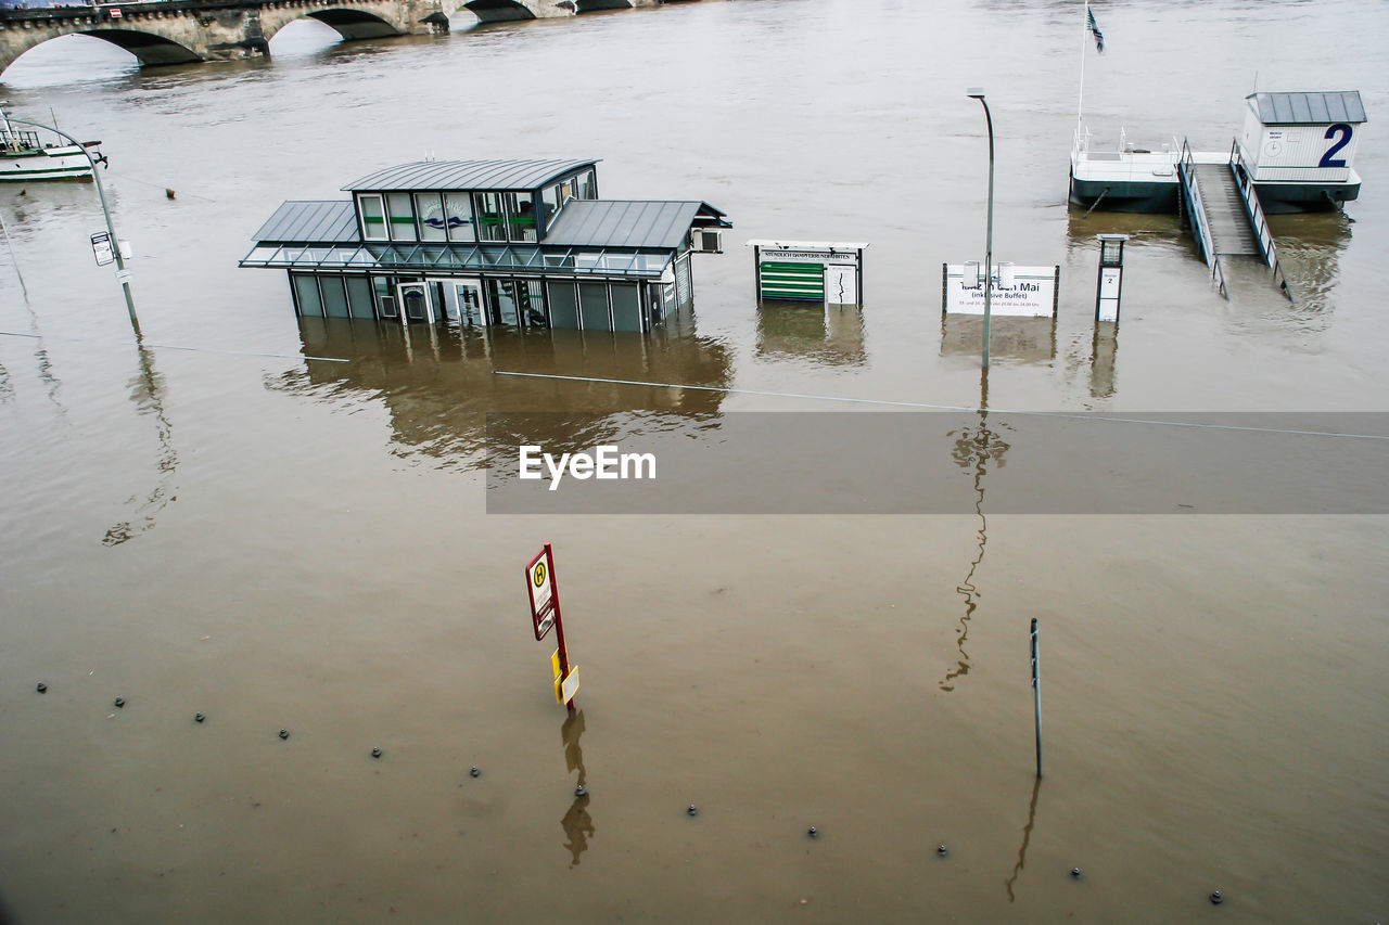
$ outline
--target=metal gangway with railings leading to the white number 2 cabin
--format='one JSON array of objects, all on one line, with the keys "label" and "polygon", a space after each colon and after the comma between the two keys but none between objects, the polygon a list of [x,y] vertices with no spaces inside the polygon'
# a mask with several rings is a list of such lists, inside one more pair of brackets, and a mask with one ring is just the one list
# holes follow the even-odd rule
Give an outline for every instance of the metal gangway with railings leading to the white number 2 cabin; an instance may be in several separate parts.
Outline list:
[{"label": "metal gangway with railings leading to the white number 2 cabin", "polygon": [[1229,160],[1224,162],[1197,162],[1190,142],[1183,140],[1176,169],[1196,246],[1210,267],[1220,294],[1229,299],[1222,258],[1257,257],[1272,269],[1279,292],[1293,301],[1292,288],[1278,262],[1278,246],[1268,231],[1268,218],[1240,157],[1239,140],[1231,144]]}]

